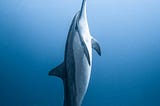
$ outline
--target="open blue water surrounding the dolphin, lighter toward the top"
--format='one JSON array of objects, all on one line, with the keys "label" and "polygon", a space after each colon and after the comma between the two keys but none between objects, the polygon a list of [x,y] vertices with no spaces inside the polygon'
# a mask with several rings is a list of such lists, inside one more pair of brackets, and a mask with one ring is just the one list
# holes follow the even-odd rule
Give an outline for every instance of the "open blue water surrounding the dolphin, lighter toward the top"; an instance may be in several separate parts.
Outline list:
[{"label": "open blue water surrounding the dolphin, lighter toward the top", "polygon": [[[0,106],[62,106],[62,62],[81,0],[0,1]],[[88,0],[92,75],[82,106],[160,106],[160,1]]]}]

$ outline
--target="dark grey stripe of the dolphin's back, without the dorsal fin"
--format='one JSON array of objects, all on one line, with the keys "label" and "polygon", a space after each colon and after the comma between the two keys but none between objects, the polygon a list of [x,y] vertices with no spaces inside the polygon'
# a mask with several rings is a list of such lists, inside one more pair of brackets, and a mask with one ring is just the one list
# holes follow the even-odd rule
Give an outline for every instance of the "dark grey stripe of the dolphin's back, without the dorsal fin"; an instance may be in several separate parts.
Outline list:
[{"label": "dark grey stripe of the dolphin's back, without the dorsal fin", "polygon": [[67,80],[64,80],[64,106],[80,106],[77,103],[76,82],[75,82],[75,56],[74,56],[74,39],[78,36],[75,29],[79,12],[74,16],[70,26],[66,48],[65,48],[65,68]]}]

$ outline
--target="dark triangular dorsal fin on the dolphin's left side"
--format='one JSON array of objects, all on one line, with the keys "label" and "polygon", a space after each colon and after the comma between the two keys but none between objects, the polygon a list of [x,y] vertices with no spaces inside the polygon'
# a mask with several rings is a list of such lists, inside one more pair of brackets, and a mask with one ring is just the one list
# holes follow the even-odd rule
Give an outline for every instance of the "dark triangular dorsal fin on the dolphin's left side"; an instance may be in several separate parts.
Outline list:
[{"label": "dark triangular dorsal fin on the dolphin's left side", "polygon": [[57,76],[61,78],[62,80],[65,79],[65,64],[64,62],[52,69],[49,73],[49,76]]}]

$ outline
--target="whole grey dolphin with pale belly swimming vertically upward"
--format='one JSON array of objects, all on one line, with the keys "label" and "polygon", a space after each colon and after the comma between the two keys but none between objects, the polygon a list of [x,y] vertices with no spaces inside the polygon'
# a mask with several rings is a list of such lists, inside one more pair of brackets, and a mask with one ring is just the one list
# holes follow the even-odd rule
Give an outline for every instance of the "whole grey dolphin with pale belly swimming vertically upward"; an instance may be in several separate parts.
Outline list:
[{"label": "whole grey dolphin with pale belly swimming vertically upward", "polygon": [[101,55],[100,45],[89,31],[86,0],[83,0],[68,32],[64,61],[48,73],[63,80],[64,106],[82,104],[91,75],[92,48]]}]

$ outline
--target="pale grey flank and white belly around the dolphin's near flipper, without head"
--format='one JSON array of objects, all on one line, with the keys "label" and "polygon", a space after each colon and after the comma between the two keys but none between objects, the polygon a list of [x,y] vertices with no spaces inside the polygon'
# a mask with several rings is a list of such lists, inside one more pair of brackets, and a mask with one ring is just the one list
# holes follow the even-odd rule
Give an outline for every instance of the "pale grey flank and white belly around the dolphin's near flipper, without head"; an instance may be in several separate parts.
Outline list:
[{"label": "pale grey flank and white belly around the dolphin's near flipper, without head", "polygon": [[[78,33],[76,33],[78,34]],[[91,39],[90,35],[88,36],[86,46],[89,51],[90,55],[90,65],[88,64],[87,58],[84,54],[83,47],[80,42],[80,38],[78,35],[75,35],[73,40],[73,53],[74,53],[74,60],[75,60],[75,84],[76,84],[76,92],[77,100],[79,102],[82,101],[90,80],[91,74],[91,66],[92,66],[92,49],[91,49]]]}]

